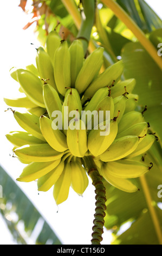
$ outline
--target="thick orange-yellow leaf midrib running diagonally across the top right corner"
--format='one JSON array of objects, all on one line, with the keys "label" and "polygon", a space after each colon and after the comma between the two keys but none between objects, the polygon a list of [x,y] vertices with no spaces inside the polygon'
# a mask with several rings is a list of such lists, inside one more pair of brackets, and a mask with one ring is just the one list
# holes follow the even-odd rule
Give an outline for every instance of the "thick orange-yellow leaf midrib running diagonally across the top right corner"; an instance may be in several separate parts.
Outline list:
[{"label": "thick orange-yellow leaf midrib running diagonally across the top right corner", "polygon": [[136,36],[142,46],[144,46],[145,50],[150,54],[155,63],[162,70],[162,59],[158,56],[157,50],[153,46],[150,40],[148,40],[145,34],[141,31],[141,29],[137,26],[137,24],[128,16],[128,14],[120,7],[118,3],[113,0],[101,0],[108,8],[110,8],[116,17],[120,19],[125,25],[132,31],[132,33]]}]

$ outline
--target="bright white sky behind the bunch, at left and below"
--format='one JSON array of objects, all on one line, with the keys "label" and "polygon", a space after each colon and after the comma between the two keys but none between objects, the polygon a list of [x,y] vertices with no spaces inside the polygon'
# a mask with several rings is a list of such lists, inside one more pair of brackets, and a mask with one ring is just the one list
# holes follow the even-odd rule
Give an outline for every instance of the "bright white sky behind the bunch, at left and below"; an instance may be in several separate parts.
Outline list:
[{"label": "bright white sky behind the bunch, at left and below", "polygon": [[[147,0],[146,2],[151,4],[152,8],[161,16],[162,8],[159,5],[162,5],[162,3],[159,4],[159,0]],[[7,109],[7,105],[3,102],[3,97],[14,97],[18,95],[17,82],[12,80],[9,70],[12,66],[25,68],[26,65],[35,63],[36,51],[35,47],[30,45],[30,43],[39,44],[33,33],[34,26],[31,26],[26,31],[22,29],[28,22],[29,17],[22,12],[21,8],[18,8],[19,3],[20,0],[1,1],[0,15],[0,164],[14,180],[21,174],[24,164],[9,156],[9,154],[12,154],[12,145],[5,138],[5,134],[10,131],[22,129],[16,123],[10,111],[4,112]],[[83,197],[77,196],[70,189],[69,198],[66,202],[59,205],[59,212],[57,213],[58,208],[53,199],[52,189],[46,193],[40,192],[38,195],[36,182],[17,182],[31,201],[34,202],[38,210],[41,211],[48,223],[51,224],[51,227],[54,228],[55,233],[60,237],[62,243],[66,245],[90,244],[95,209],[94,187],[91,183],[91,180],[89,180],[89,186]],[[1,216],[0,227],[0,244],[14,244]],[[84,233],[85,229],[86,232]],[[35,236],[33,235],[33,240],[29,240],[29,243],[34,243],[34,239]],[[111,241],[111,234],[105,230],[102,245],[109,243],[109,241]]]}]

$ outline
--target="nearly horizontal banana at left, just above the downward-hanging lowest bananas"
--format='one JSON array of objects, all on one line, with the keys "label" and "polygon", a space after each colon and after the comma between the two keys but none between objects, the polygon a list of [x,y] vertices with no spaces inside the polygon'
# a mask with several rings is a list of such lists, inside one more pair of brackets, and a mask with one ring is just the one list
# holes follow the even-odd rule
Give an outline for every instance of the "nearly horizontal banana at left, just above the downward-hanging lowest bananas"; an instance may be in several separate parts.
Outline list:
[{"label": "nearly horizontal banana at left, just above the downward-hanging lowest bananas", "polygon": [[31,162],[50,162],[60,159],[63,155],[51,148],[48,143],[24,145],[14,150],[14,153],[24,160]]}]

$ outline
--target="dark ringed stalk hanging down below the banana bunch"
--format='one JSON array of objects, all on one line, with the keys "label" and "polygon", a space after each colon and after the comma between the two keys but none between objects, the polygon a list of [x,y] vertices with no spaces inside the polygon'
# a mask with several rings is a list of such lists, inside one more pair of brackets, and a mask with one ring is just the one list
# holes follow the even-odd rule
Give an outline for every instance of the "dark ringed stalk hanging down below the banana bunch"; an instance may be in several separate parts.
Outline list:
[{"label": "dark ringed stalk hanging down below the banana bunch", "polygon": [[83,161],[85,162],[85,167],[88,170],[88,175],[92,179],[92,184],[95,186],[95,199],[96,199],[96,208],[94,214],[94,226],[92,228],[92,245],[100,245],[102,241],[103,234],[103,225],[104,217],[106,210],[106,196],[105,196],[105,187],[102,183],[102,176],[99,174],[98,169],[93,161],[92,156],[85,156]]}]

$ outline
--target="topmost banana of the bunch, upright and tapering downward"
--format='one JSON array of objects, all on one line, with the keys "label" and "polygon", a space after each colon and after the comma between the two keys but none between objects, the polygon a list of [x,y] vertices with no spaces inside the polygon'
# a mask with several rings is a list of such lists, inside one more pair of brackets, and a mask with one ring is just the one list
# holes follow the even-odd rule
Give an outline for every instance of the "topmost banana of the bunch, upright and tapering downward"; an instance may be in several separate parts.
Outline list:
[{"label": "topmost banana of the bunch, upright and tapering downward", "polygon": [[46,48],[52,64],[54,64],[55,51],[60,46],[60,42],[61,42],[61,37],[55,30],[51,31],[48,34],[47,40],[46,40]]}]

